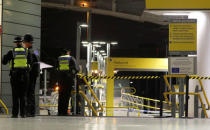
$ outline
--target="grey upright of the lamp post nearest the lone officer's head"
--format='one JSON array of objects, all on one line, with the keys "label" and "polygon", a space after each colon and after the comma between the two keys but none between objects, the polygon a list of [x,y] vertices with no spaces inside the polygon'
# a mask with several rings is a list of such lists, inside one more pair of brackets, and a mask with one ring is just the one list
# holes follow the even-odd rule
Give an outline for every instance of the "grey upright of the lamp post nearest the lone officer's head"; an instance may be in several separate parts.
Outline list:
[{"label": "grey upright of the lamp post nearest the lone officer's head", "polygon": [[80,64],[80,42],[81,42],[81,27],[80,22],[77,22],[77,45],[76,45],[76,60]]}]

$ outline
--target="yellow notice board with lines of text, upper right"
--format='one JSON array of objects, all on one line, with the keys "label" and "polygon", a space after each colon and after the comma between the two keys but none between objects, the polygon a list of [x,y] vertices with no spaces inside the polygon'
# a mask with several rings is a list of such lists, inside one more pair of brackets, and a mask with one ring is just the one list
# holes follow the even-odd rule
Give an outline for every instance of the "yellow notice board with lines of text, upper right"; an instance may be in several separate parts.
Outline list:
[{"label": "yellow notice board with lines of text, upper right", "polygon": [[197,54],[197,20],[174,19],[169,24],[169,54]]}]

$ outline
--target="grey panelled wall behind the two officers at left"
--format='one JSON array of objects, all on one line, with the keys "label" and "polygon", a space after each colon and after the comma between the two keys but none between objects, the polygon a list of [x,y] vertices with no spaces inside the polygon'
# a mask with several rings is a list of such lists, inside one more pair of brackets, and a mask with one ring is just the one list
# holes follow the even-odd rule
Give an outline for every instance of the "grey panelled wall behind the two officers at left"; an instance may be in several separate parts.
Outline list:
[{"label": "grey panelled wall behind the two officers at left", "polygon": [[[4,0],[2,2],[2,44],[1,57],[13,48],[15,36],[30,33],[34,36],[34,50],[40,50],[41,39],[41,0]],[[36,101],[39,94],[37,81]],[[1,68],[1,99],[11,111],[12,93],[9,78],[9,65]],[[37,103],[38,107],[38,103]]]}]

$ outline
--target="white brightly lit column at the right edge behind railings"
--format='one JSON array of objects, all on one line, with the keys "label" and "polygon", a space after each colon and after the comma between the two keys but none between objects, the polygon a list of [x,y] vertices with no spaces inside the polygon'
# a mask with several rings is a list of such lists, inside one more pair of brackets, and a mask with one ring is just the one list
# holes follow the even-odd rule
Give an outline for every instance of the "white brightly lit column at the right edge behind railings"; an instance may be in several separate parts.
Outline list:
[{"label": "white brightly lit column at the right edge behind railings", "polygon": [[[189,18],[197,19],[197,70],[199,76],[210,77],[210,13],[203,11],[195,11],[190,13]],[[207,98],[210,99],[210,80],[203,80],[204,88],[207,93]],[[196,80],[190,80],[190,91],[195,90],[198,85]],[[203,96],[202,96],[203,98]],[[204,98],[203,98],[204,100]],[[190,100],[189,105],[193,106],[194,101]],[[193,107],[189,108],[189,116],[193,116]],[[209,115],[209,114],[208,114]]]}]

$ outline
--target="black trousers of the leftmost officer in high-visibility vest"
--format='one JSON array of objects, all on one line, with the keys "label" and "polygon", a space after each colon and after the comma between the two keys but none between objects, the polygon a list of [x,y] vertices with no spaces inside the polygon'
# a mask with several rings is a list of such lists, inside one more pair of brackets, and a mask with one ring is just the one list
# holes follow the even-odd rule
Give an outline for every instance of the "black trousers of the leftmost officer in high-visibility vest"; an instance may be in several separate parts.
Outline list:
[{"label": "black trousers of the leftmost officer in high-visibility vest", "polygon": [[10,72],[10,82],[12,86],[12,115],[25,116],[26,114],[26,92],[29,81],[29,73],[26,69],[16,69]]}]

